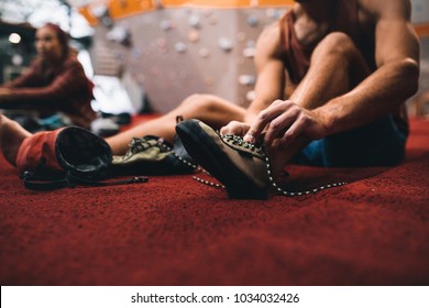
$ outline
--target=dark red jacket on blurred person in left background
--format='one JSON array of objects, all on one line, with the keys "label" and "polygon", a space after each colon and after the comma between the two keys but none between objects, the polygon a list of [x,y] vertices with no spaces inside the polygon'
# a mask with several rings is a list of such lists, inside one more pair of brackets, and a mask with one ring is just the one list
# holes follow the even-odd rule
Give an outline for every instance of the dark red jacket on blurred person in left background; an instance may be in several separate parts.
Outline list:
[{"label": "dark red jacket on blurred person in left background", "polygon": [[81,64],[70,56],[56,67],[34,61],[28,72],[3,87],[12,94],[0,99],[13,108],[38,110],[42,116],[63,112],[75,125],[89,128],[96,118],[90,102],[94,84],[88,80]]}]

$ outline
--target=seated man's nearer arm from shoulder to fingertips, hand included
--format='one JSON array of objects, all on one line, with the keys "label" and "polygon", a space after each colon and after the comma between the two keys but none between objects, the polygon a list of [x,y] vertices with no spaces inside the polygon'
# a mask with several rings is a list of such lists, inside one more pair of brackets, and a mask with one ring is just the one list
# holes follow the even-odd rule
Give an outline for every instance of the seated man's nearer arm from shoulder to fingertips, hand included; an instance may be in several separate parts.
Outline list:
[{"label": "seated man's nearer arm from shoulder to fingertips, hand included", "polygon": [[[265,140],[288,146],[297,138],[316,140],[397,112],[418,88],[419,43],[410,24],[408,0],[360,0],[375,31],[377,69],[351,91],[307,110],[293,101],[276,101],[260,112],[245,141],[255,142],[266,124]],[[274,124],[273,124],[274,123]]]}]

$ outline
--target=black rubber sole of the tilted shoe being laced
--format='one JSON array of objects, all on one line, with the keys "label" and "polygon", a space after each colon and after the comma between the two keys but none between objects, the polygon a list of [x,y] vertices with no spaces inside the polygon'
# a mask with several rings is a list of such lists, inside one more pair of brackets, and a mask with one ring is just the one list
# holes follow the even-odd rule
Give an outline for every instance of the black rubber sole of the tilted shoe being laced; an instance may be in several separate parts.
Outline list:
[{"label": "black rubber sole of the tilted shoe being laced", "polygon": [[[239,169],[229,156],[219,148],[195,120],[176,125],[176,132],[186,151],[206,170],[226,186],[232,199],[267,199],[268,189],[256,186]],[[205,142],[201,142],[205,140]]]}]

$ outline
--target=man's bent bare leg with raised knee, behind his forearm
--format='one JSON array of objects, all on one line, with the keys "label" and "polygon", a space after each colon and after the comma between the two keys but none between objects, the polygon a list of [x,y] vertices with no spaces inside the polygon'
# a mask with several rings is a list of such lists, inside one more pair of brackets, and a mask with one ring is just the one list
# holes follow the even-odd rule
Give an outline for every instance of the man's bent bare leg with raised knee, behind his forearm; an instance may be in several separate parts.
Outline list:
[{"label": "man's bent bare leg with raised knee, behind his forearm", "polygon": [[[312,110],[330,99],[344,95],[370,74],[370,69],[353,42],[342,33],[328,35],[315,50],[310,68],[290,96],[300,107]],[[308,140],[298,138],[287,148],[270,150],[274,174],[282,173],[284,166],[307,144]]]}]

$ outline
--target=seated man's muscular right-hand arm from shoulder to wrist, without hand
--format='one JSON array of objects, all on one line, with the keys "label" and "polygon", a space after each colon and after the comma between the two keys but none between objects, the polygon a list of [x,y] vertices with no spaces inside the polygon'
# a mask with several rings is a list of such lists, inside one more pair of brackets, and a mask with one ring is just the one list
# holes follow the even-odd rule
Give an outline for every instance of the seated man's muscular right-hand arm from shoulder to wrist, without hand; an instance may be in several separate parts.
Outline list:
[{"label": "seated man's muscular right-hand arm from shoulder to wrist, without hand", "polygon": [[408,0],[361,0],[375,23],[377,69],[352,91],[314,110],[327,134],[342,132],[395,112],[418,88],[419,42]]}]

